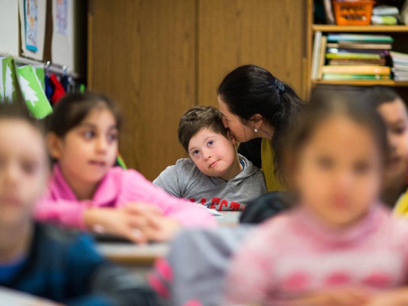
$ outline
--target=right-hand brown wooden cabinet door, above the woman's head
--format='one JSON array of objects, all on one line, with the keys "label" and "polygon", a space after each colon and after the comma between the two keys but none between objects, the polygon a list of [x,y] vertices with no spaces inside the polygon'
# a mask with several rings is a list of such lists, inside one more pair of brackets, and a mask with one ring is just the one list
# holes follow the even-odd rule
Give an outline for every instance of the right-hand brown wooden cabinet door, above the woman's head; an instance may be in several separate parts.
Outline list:
[{"label": "right-hand brown wooden cabinet door, above the woman's head", "polygon": [[217,104],[224,75],[243,64],[268,69],[303,96],[304,0],[201,0],[198,7],[198,101]]}]

